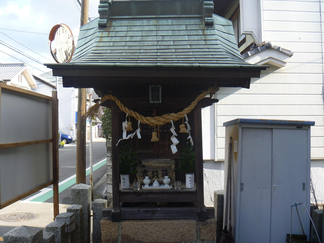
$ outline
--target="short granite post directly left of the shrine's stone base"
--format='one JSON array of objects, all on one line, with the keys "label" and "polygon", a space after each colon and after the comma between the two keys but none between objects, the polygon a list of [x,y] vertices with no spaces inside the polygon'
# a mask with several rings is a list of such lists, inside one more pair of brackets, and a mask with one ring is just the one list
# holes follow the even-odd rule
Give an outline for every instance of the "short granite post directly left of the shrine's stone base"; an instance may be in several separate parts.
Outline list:
[{"label": "short granite post directly left of the shrine's stone base", "polygon": [[92,203],[92,243],[101,243],[102,209],[107,208],[107,200],[96,199]]}]

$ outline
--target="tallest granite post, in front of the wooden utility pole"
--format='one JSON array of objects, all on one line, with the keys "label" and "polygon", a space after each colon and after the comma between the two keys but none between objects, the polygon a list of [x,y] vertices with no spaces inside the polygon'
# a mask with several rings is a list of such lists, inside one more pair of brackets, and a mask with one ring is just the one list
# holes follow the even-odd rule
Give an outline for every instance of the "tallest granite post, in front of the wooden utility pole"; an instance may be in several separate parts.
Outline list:
[{"label": "tallest granite post, in front of the wooden utility pole", "polygon": [[71,205],[83,207],[83,238],[85,243],[90,243],[90,211],[91,211],[91,186],[78,184],[71,188]]}]

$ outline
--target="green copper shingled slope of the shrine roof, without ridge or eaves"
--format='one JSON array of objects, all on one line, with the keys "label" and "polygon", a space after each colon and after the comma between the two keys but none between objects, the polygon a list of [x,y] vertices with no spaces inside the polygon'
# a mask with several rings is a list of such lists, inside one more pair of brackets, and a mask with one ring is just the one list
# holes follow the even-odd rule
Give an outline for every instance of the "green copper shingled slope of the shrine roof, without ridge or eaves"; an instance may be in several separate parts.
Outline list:
[{"label": "green copper shingled slope of the shrine roof, without ridge or eaves", "polygon": [[80,29],[71,63],[108,66],[253,67],[245,62],[232,22],[213,15],[214,25],[196,18],[98,19]]}]

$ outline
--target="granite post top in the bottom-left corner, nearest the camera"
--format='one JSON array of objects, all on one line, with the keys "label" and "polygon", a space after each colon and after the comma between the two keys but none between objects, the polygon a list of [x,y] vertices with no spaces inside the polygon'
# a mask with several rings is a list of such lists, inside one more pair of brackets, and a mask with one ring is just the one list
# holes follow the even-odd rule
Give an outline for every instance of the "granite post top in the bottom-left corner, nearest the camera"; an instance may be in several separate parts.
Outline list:
[{"label": "granite post top in the bottom-left corner, nearest the camera", "polygon": [[43,230],[37,227],[19,226],[4,234],[6,243],[43,243]]}]

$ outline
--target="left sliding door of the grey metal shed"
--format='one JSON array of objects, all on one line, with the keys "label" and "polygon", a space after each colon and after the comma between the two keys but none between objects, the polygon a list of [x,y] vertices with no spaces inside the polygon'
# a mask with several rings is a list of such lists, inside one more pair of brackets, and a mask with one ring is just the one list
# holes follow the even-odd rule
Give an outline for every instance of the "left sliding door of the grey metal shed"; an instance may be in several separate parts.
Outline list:
[{"label": "left sliding door of the grey metal shed", "polygon": [[236,242],[270,242],[272,129],[242,128],[241,145]]}]

